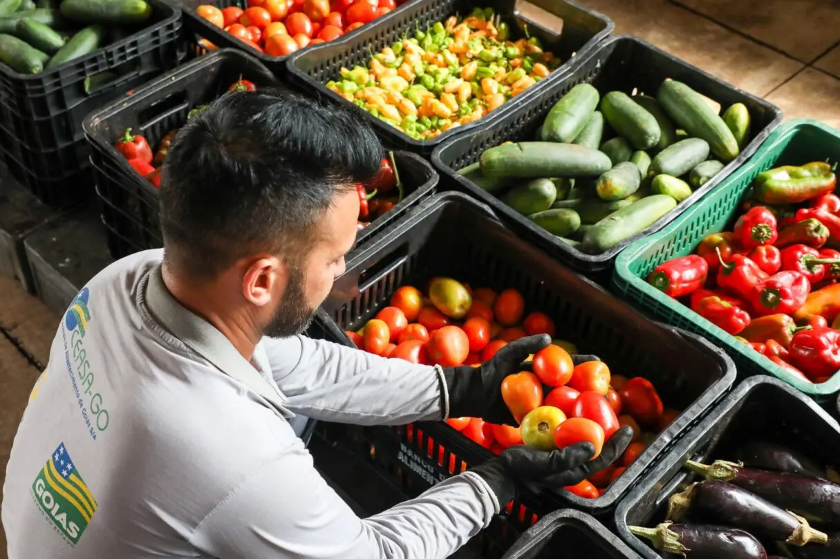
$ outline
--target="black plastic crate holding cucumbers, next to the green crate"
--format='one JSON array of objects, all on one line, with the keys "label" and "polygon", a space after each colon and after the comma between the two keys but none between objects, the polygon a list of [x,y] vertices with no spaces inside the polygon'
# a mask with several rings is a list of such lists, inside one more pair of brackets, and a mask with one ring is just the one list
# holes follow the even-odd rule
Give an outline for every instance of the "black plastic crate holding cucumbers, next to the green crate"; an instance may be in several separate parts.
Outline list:
[{"label": "black plastic crate holding cucumbers, next to the green crate", "polygon": [[[655,96],[659,84],[666,78],[685,82],[706,97],[719,102],[724,109],[732,103],[743,102],[748,107],[752,118],[753,139],[736,159],[713,179],[696,189],[689,198],[680,202],[668,215],[638,235],[617,243],[604,253],[586,254],[571,248],[542,227],[534,225],[527,217],[514,212],[496,196],[492,196],[456,173],[457,170],[477,161],[485,149],[508,140],[533,140],[537,128],[542,125],[554,103],[579,83],[591,83],[596,86],[602,96],[607,91],[624,91],[632,94],[636,90]],[[730,86],[642,39],[617,35],[601,43],[588,55],[575,59],[575,66],[570,72],[543,88],[539,97],[527,106],[517,107],[515,111],[507,113],[493,112],[485,126],[471,133],[459,135],[441,145],[432,155],[432,162],[448,185],[467,191],[470,195],[490,205],[503,219],[511,222],[517,232],[533,240],[534,243],[538,243],[563,264],[583,274],[605,275],[608,279],[607,273],[622,248],[637,238],[659,231],[685,208],[700,200],[706,192],[711,191],[724,177],[742,165],[781,121],[781,111],[764,99]]]}]

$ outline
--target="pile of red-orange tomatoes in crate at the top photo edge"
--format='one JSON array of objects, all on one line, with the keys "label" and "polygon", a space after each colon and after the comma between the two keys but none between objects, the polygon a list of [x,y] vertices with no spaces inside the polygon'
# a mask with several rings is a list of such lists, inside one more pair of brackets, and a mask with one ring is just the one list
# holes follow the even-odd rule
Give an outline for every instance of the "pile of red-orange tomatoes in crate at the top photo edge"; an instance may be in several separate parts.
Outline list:
[{"label": "pile of red-orange tomatoes in crate at the top photo edge", "polygon": [[[202,4],[196,13],[249,47],[270,56],[291,55],[385,15],[403,0],[247,0],[247,8]],[[205,45],[214,48],[214,45]]]}]

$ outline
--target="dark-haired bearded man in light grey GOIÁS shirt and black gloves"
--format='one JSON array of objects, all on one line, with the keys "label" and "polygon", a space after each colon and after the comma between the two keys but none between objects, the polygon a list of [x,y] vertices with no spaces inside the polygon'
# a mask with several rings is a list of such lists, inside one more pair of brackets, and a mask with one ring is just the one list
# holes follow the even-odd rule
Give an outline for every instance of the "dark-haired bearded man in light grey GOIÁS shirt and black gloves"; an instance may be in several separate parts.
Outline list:
[{"label": "dark-haired bearded man in light grey GOI\u00c1S shirt and black gloves", "polygon": [[[548,337],[481,368],[418,366],[300,334],[344,271],[381,146],[343,108],[228,94],[165,164],[165,252],[98,274],[61,321],[3,488],[9,559],[432,559],[485,527],[517,485],[559,487],[627,445],[525,447],[360,519],[288,420],[512,423],[501,379]],[[546,338],[546,339],[543,339]]]}]

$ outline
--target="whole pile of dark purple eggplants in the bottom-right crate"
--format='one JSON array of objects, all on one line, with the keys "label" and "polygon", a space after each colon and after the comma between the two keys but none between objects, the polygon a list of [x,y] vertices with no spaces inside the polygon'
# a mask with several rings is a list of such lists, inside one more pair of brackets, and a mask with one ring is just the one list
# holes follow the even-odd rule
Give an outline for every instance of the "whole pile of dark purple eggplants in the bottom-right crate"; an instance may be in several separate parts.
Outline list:
[{"label": "whole pile of dark purple eggplants in the bottom-right crate", "polygon": [[688,559],[840,559],[840,484],[825,468],[778,445],[759,442],[738,462],[685,468],[705,478],[669,499],[667,522],[629,526],[666,556]]}]

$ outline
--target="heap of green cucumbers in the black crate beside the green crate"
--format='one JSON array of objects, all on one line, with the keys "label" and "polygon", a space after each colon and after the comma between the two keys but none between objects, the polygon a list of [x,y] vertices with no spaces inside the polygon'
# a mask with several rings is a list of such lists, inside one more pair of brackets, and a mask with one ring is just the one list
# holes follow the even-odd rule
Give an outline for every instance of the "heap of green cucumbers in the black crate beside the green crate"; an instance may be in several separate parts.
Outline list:
[{"label": "heap of green cucumbers in the black crate beside the green crate", "polygon": [[[600,107],[600,110],[596,110]],[[460,175],[584,253],[642,232],[735,159],[750,138],[747,107],[722,116],[680,81],[656,97],[574,86],[536,141],[487,149]]]}]

